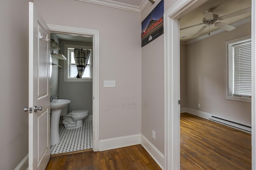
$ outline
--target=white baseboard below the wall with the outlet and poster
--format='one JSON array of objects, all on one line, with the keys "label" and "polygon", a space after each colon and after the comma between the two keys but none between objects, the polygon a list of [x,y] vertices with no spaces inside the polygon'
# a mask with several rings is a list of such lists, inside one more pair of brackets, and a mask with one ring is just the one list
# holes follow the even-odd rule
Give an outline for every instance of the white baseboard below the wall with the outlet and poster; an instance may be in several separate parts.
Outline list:
[{"label": "white baseboard below the wall with the outlet and poster", "polygon": [[164,154],[162,154],[146,137],[141,135],[141,145],[152,156],[160,168],[164,169]]}]

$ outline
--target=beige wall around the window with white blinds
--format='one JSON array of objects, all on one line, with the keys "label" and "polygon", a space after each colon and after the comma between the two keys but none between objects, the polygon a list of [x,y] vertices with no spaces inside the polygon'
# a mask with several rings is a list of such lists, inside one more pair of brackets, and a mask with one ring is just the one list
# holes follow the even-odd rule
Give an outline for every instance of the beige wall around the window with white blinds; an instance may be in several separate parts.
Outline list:
[{"label": "beige wall around the window with white blinds", "polygon": [[251,25],[246,23],[187,45],[186,107],[251,124],[251,103],[225,100],[224,72],[224,42],[250,33]]}]

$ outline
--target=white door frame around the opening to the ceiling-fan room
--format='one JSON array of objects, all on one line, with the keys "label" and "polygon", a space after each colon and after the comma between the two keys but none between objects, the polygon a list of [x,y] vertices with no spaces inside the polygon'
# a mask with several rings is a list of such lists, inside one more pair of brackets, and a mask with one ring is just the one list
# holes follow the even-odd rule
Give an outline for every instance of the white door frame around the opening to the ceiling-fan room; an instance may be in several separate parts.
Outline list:
[{"label": "white door frame around the opening to the ceiling-fan room", "polygon": [[[180,36],[178,20],[207,0],[179,0],[164,13],[165,168],[180,169],[179,72]],[[252,0],[252,96],[256,96],[256,3]],[[252,98],[252,170],[256,170],[256,100]]]}]

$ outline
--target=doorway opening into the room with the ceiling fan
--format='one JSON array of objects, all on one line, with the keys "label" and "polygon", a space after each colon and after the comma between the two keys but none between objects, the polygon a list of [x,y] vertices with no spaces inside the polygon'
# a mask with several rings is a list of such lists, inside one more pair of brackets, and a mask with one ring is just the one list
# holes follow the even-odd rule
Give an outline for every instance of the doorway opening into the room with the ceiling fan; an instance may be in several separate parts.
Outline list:
[{"label": "doorway opening into the room with the ceiling fan", "polygon": [[[243,6],[241,6],[241,2],[244,3]],[[232,10],[228,9],[228,6],[231,5],[233,6]],[[200,154],[205,154],[205,156],[195,163],[197,165],[192,165],[195,169],[197,169],[196,166],[208,166],[211,168],[211,165],[228,165],[228,155],[233,154],[238,157],[244,157],[244,159],[233,159],[232,164],[239,167],[240,163],[244,165],[245,169],[251,168],[250,134],[240,131],[243,130],[243,127],[244,129],[248,129],[248,131],[251,130],[251,104],[249,102],[226,100],[223,95],[225,94],[225,80],[223,75],[225,75],[226,72],[226,66],[223,62],[225,59],[224,44],[230,39],[237,39],[238,37],[251,34],[251,13],[248,12],[249,10],[247,11],[250,7],[251,0],[238,0],[236,2],[208,0],[179,20],[180,100],[181,112],[185,112],[181,113],[180,117],[181,169],[193,161],[196,162],[197,160],[194,158]],[[222,15],[229,16],[220,22],[226,24],[227,28],[233,27],[234,30],[220,29],[218,25],[215,26],[214,24],[206,25],[207,29],[204,29],[206,28],[205,24],[196,25],[195,23],[202,23],[204,15],[212,13],[209,12],[209,9],[211,9],[214,15],[219,14],[220,18]],[[237,16],[231,14],[236,11],[240,11],[240,14]],[[194,21],[192,21],[192,18]],[[215,20],[218,20],[218,18],[214,19],[214,21]],[[231,70],[232,69],[230,69],[230,72]],[[240,97],[237,98],[238,100],[241,100]],[[247,99],[250,100],[250,98]],[[192,115],[196,115],[197,117]],[[201,119],[200,117],[203,117],[204,119]],[[216,119],[216,117],[221,118]],[[209,119],[218,123],[212,123],[211,121],[208,121]],[[196,121],[200,123],[196,124]],[[219,123],[240,129],[230,129]],[[204,126],[198,127],[199,124]],[[207,127],[209,132],[204,131],[205,127]],[[218,132],[218,129],[220,128],[223,129]],[[189,129],[191,129],[191,131]],[[225,133],[226,135],[224,135]],[[220,137],[220,134],[224,137]],[[230,137],[230,134],[240,135],[232,135],[232,137]],[[195,136],[198,138],[194,138]],[[244,143],[235,143],[232,140],[241,140]],[[190,143],[191,141],[194,141],[197,145],[192,145],[192,143]],[[218,143],[217,141],[220,144],[216,145],[216,143]],[[233,143],[232,147],[242,148],[240,152],[246,152],[246,154],[240,155],[240,152],[236,152],[235,149],[230,148],[229,144],[226,145],[225,142],[229,144]],[[222,146],[221,148],[218,147],[220,145]],[[200,150],[198,148],[204,149]],[[225,151],[222,149],[225,149]],[[193,153],[192,157],[188,158],[189,152],[192,150],[197,151]],[[205,150],[210,151],[211,156],[208,157]],[[218,150],[218,153],[226,152],[227,155],[218,155],[215,150]],[[228,154],[228,152],[232,152],[232,154]],[[248,157],[246,158],[246,156]],[[211,157],[214,157],[214,159]],[[208,165],[206,165],[207,163],[205,162],[208,160],[210,160],[210,163],[208,162]],[[230,164],[229,167],[234,166],[232,164]]]}]

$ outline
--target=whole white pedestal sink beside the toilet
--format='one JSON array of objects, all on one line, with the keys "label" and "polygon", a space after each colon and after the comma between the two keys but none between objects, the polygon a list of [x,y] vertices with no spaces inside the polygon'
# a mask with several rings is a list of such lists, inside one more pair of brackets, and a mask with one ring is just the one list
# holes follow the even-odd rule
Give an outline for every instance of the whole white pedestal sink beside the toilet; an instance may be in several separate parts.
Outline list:
[{"label": "whole white pedestal sink beside the toilet", "polygon": [[50,109],[52,110],[52,119],[51,119],[51,131],[50,131],[50,144],[56,145],[60,142],[60,133],[59,133],[59,123],[60,123],[60,114],[62,108],[67,106],[70,103],[70,100],[65,99],[55,99],[50,102]]}]

